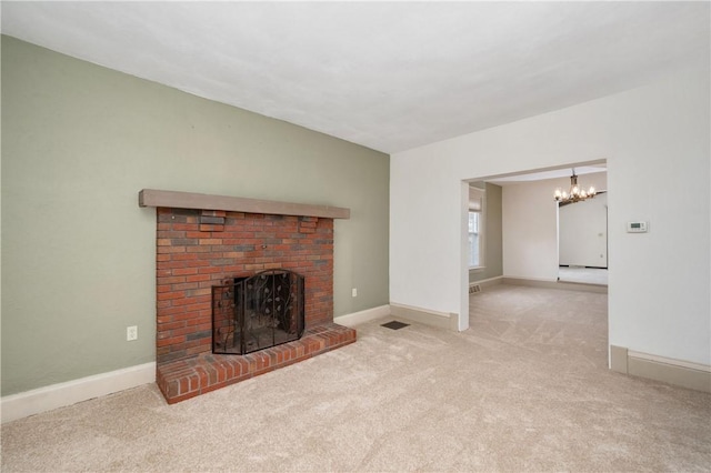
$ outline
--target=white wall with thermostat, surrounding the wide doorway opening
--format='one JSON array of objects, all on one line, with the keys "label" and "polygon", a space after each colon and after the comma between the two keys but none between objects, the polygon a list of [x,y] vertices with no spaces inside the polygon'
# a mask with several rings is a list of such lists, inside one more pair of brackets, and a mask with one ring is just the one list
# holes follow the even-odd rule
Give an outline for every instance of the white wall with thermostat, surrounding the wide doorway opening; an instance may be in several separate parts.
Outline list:
[{"label": "white wall with thermostat, surrounding the wide doorway opening", "polygon": [[[609,342],[710,364],[710,85],[709,70],[679,73],[393,154],[391,301],[459,313],[467,328],[462,180],[607,159]],[[638,219],[649,233],[625,232]]]}]

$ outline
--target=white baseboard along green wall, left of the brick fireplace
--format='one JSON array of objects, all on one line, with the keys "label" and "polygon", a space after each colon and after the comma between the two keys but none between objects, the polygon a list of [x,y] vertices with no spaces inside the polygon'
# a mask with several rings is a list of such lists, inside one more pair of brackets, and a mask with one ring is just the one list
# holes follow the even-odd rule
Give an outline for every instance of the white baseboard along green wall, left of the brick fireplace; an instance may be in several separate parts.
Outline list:
[{"label": "white baseboard along green wall, left of the brick fireplace", "polygon": [[2,423],[156,382],[156,362],[52,384],[0,399]]}]

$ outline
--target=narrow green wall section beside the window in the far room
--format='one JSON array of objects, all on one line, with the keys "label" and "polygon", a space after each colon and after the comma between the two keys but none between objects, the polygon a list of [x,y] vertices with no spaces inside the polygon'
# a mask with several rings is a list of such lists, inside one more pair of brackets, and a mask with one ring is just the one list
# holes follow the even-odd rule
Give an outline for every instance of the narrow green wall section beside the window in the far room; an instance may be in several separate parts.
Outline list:
[{"label": "narrow green wall section beside the window in the far room", "polygon": [[469,282],[503,275],[503,246],[501,224],[501,185],[485,183],[487,211],[484,214],[484,269],[470,270]]}]

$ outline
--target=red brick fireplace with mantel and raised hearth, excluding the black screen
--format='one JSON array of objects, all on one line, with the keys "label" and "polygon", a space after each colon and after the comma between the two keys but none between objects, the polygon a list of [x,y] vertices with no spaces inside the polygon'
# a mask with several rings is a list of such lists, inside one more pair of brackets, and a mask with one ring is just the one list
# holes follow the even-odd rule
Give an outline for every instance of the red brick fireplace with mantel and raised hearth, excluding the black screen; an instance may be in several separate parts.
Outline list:
[{"label": "red brick fireplace with mantel and raised hearth, excluding the black screen", "polygon": [[[356,341],[333,323],[333,219],[348,209],[156,190],[139,204],[157,208],[157,382],[169,403]],[[304,276],[303,336],[213,354],[212,286],[278,269]]]}]

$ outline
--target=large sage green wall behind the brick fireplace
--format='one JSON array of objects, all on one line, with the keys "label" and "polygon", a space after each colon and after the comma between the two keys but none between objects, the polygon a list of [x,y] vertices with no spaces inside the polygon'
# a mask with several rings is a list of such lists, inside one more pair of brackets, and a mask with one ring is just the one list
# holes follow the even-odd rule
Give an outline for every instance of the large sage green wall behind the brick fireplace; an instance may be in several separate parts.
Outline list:
[{"label": "large sage green wall behind the brick fireplace", "polygon": [[2,37],[2,394],[154,361],[144,188],[350,208],[336,315],[387,304],[389,160]]}]

